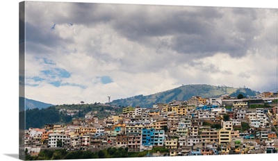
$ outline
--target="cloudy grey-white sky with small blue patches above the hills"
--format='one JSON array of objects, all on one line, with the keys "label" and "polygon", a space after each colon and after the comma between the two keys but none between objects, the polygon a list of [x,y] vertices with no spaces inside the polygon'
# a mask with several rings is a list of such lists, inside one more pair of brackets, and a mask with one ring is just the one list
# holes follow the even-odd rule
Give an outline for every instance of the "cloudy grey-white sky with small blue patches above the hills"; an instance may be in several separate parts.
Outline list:
[{"label": "cloudy grey-white sky with small blue patches above the hills", "polygon": [[28,99],[105,103],[182,84],[277,91],[275,9],[27,1],[25,22]]}]

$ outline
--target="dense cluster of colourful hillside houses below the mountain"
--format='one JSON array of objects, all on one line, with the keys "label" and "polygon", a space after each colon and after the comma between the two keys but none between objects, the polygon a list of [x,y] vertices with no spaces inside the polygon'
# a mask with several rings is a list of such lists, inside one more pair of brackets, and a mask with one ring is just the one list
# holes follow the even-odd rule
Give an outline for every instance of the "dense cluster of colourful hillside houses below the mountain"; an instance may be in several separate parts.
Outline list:
[{"label": "dense cluster of colourful hillside houses below the mountain", "polygon": [[[99,151],[127,147],[136,152],[156,146],[169,149],[169,153],[149,156],[277,153],[278,107],[273,105],[274,100],[277,96],[193,96],[187,101],[157,103],[153,108],[129,106],[122,109],[121,115],[104,119],[88,112],[84,118],[74,118],[71,124],[29,128],[24,144],[31,155],[38,155],[43,149]],[[252,104],[265,103],[272,103],[271,108],[250,108]],[[250,128],[242,130],[243,124]]]}]

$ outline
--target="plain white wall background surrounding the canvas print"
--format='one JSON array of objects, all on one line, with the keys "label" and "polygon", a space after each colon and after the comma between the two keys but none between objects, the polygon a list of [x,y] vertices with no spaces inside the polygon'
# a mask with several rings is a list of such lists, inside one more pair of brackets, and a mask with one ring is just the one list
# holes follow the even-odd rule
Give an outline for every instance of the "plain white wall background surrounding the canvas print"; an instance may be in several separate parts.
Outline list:
[{"label": "plain white wall background surrounding the canvas print", "polygon": [[[72,0],[67,0],[72,1]],[[77,1],[76,1],[77,2]],[[165,4],[183,6],[229,6],[229,7],[251,7],[251,8],[278,8],[278,2],[273,0],[83,0],[78,2],[98,2],[98,3],[144,3],[144,4]],[[1,131],[0,131],[0,160],[18,160],[18,8],[19,1],[1,1]],[[277,21],[277,19],[273,19]],[[8,132],[8,130],[13,133]],[[9,138],[9,139],[6,139]],[[176,157],[159,158],[159,160],[266,160],[277,158],[277,154],[268,155],[229,155],[213,157]],[[136,158],[134,160],[152,160],[154,158]],[[113,159],[113,160],[129,160]]]}]

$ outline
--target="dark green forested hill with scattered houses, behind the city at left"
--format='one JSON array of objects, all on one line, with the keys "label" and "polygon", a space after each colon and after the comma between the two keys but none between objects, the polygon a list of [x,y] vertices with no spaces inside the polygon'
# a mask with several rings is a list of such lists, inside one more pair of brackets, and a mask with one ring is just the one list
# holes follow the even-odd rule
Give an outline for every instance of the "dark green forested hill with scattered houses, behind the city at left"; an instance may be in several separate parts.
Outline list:
[{"label": "dark green forested hill with scattered houses, behind the city at left", "polygon": [[[111,112],[119,115],[122,109],[95,104],[55,105],[49,108],[28,109],[25,111],[26,129],[43,128],[45,124],[67,124],[72,122],[73,118],[84,118],[88,112],[95,112],[97,117],[102,119],[111,115]],[[24,111],[19,112],[19,115],[24,115]]]}]

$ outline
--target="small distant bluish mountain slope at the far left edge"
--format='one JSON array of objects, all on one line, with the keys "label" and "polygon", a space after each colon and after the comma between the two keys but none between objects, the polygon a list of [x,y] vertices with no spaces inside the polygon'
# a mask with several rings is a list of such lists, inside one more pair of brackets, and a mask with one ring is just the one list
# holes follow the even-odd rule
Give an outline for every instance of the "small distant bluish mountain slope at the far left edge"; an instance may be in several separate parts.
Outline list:
[{"label": "small distant bluish mountain slope at the far left edge", "polygon": [[20,106],[20,111],[24,110],[24,99],[25,99],[25,105],[26,105],[26,110],[27,109],[42,109],[42,108],[48,108],[52,106],[50,103],[43,103],[40,101],[35,101],[33,99],[26,99],[24,97],[19,96],[19,106]]}]

